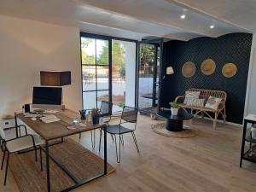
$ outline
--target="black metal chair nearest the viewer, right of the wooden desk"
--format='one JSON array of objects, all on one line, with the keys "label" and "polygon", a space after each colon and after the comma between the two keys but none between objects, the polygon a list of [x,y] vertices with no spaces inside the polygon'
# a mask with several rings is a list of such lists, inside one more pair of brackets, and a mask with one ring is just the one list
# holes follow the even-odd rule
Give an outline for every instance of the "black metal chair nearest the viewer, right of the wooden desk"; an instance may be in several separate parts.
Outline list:
[{"label": "black metal chair nearest the viewer, right of the wooden desk", "polygon": [[[121,142],[122,142],[122,137],[125,133],[130,133],[133,137],[133,141],[135,143],[135,146],[137,148],[137,153],[139,153],[139,148],[137,145],[137,140],[134,134],[134,131],[136,131],[136,126],[137,126],[137,113],[138,110],[137,108],[131,108],[128,106],[125,106],[123,108],[123,112],[121,115],[121,119],[119,121],[118,125],[108,125],[106,128],[106,131],[114,136],[114,143],[115,143],[115,148],[116,148],[116,160],[119,163],[120,158],[121,158]],[[118,154],[118,147],[117,147],[117,142],[116,142],[116,135],[119,135],[119,154]],[[102,139],[102,134],[100,136],[100,142]],[[101,146],[101,143],[100,143]]]}]

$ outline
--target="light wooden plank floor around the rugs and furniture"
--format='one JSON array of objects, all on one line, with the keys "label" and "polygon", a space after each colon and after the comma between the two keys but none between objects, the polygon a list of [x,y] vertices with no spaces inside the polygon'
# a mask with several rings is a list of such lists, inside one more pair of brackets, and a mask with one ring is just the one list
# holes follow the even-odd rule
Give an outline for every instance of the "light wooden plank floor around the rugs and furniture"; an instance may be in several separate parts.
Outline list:
[{"label": "light wooden plank floor around the rugs and furniture", "polygon": [[[256,166],[244,161],[243,168],[239,168],[241,128],[218,124],[213,130],[209,121],[195,119],[198,136],[172,138],[151,131],[150,125],[159,122],[139,116],[136,136],[141,153],[137,154],[131,134],[126,135],[120,164],[116,163],[114,143],[108,137],[108,162],[117,172],[76,191],[256,191]],[[73,138],[78,140],[77,136]],[[91,149],[90,134],[84,134],[81,143]],[[96,154],[97,148],[96,141]],[[11,174],[6,187],[0,184],[0,191],[19,191]]]}]

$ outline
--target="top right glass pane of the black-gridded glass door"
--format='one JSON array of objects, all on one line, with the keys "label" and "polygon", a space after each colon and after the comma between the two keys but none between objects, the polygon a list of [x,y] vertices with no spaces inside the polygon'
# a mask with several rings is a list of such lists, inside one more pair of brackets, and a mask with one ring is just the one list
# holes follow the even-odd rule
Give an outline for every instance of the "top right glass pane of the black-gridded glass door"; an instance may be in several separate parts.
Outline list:
[{"label": "top right glass pane of the black-gridded glass door", "polygon": [[97,65],[108,65],[108,40],[96,39]]}]

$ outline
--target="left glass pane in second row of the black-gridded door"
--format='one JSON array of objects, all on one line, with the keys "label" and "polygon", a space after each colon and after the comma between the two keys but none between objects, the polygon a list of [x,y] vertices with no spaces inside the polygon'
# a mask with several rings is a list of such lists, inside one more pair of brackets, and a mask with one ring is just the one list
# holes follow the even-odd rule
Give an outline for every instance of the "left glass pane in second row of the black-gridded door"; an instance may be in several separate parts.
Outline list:
[{"label": "left glass pane in second row of the black-gridded door", "polygon": [[83,90],[96,90],[96,66],[82,65]]}]

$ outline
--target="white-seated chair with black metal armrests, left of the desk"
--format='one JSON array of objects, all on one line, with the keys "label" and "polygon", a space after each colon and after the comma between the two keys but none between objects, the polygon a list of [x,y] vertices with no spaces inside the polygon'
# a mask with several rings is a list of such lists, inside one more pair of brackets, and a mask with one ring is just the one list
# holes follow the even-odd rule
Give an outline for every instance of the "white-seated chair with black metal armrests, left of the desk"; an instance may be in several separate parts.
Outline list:
[{"label": "white-seated chair with black metal armrests, left of the desk", "polygon": [[[26,126],[24,127],[26,129]],[[16,152],[20,152],[29,148],[34,148],[35,158],[36,158],[36,161],[38,161],[37,146],[42,143],[39,138],[35,139],[34,137],[36,136],[32,136],[31,134],[26,134],[24,136],[19,136],[19,137],[9,139],[6,136],[5,131],[1,127],[0,127],[0,136],[2,137],[2,142],[3,142],[3,160],[1,164],[1,170],[3,170],[5,155],[7,153],[7,162],[6,162],[6,168],[5,168],[4,183],[3,183],[3,185],[5,186],[6,179],[7,179],[8,166],[9,166],[9,154],[14,154]],[[40,159],[42,159],[41,150],[40,150]],[[42,164],[41,164],[41,170],[42,170]]]}]

